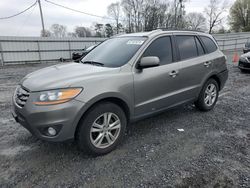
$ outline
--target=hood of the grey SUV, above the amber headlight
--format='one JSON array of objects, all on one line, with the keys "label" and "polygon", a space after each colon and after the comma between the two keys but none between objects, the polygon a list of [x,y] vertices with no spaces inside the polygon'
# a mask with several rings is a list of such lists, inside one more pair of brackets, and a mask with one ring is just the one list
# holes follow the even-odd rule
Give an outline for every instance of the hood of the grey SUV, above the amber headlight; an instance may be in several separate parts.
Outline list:
[{"label": "hood of the grey SUV, above the amber headlight", "polygon": [[30,91],[67,88],[74,86],[74,83],[118,72],[119,70],[120,68],[67,63],[50,66],[30,73],[21,80],[20,84]]}]

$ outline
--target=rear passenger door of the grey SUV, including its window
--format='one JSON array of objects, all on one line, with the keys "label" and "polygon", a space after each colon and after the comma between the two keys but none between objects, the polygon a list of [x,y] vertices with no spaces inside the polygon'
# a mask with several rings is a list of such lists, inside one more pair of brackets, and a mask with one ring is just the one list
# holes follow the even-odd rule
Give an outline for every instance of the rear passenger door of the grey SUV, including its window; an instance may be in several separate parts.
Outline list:
[{"label": "rear passenger door of the grey SUV, including its window", "polygon": [[179,52],[180,87],[182,98],[193,100],[197,97],[203,79],[210,74],[210,57],[205,54],[200,39],[196,35],[178,34],[175,36]]}]

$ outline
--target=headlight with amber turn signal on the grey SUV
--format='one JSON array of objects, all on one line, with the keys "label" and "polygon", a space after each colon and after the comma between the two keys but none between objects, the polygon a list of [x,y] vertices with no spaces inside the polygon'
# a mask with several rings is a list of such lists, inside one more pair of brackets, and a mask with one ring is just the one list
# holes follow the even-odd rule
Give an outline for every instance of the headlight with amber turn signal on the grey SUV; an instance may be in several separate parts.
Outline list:
[{"label": "headlight with amber turn signal on the grey SUV", "polygon": [[37,101],[33,102],[36,105],[51,105],[68,102],[75,98],[82,91],[82,88],[58,89],[51,91],[43,91],[40,93]]}]

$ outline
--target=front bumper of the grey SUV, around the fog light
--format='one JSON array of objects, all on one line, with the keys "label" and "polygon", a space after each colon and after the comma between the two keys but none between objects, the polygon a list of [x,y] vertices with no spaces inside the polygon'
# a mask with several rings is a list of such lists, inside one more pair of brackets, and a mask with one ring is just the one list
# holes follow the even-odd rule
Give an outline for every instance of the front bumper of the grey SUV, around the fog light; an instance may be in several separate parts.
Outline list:
[{"label": "front bumper of the grey SUV, around the fog light", "polygon": [[[74,139],[79,112],[84,103],[71,100],[58,105],[36,106],[31,101],[28,100],[25,106],[20,108],[13,98],[12,115],[18,123],[41,140],[62,142]],[[48,127],[56,128],[58,133],[49,136],[46,134]]]}]

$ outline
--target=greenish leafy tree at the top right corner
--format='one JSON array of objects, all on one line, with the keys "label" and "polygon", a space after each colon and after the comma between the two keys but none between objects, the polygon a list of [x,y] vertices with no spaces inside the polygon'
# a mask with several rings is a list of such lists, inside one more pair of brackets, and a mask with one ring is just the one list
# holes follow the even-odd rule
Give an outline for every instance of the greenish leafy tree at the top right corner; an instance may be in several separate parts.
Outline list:
[{"label": "greenish leafy tree at the top right corner", "polygon": [[231,29],[239,31],[250,31],[250,1],[236,0],[229,12],[229,24]]}]

